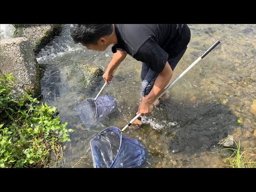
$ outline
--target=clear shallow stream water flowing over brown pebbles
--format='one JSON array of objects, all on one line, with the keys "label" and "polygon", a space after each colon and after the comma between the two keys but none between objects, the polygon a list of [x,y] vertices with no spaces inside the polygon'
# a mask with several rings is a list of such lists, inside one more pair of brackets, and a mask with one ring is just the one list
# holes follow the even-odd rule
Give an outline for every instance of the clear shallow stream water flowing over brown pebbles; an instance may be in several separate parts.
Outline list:
[{"label": "clear shallow stream water flowing over brown pebbles", "polygon": [[[217,39],[221,43],[172,87],[171,98],[154,108],[144,119],[145,124],[123,133],[150,150],[143,167],[227,167],[223,159],[230,154],[224,153],[217,142],[228,134],[240,140],[244,148],[256,146],[256,117],[250,113],[256,99],[256,25],[189,27],[190,45],[171,81]],[[87,63],[106,70],[112,55],[111,47],[95,52],[73,44],[67,26],[37,55],[45,67],[41,81],[45,101],[58,107],[61,121],[75,130],[70,134],[64,167],[93,167],[89,141],[107,127],[122,129],[137,112],[141,63],[127,56],[101,93],[116,99],[114,113],[90,131],[77,115],[76,102],[94,98],[104,84],[101,77],[96,83],[85,84],[79,66]],[[237,123],[237,119],[243,123]]]}]

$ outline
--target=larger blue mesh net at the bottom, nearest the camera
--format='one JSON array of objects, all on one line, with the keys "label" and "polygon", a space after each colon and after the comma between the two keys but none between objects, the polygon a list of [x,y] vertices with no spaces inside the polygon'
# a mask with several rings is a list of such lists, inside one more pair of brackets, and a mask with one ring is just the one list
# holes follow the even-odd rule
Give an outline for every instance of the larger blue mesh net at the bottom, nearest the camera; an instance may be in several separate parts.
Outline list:
[{"label": "larger blue mesh net at the bottom, nearest the camera", "polygon": [[95,168],[135,168],[147,160],[147,150],[117,127],[108,127],[90,141]]}]

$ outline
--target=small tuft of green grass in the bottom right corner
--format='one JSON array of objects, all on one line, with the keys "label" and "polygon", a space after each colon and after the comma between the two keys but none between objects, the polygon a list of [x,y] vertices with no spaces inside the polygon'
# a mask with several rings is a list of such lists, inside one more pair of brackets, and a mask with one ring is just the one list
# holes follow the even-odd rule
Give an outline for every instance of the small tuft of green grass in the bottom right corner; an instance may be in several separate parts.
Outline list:
[{"label": "small tuft of green grass in the bottom right corner", "polygon": [[[236,143],[236,141],[235,141],[235,143]],[[239,141],[238,145],[236,143],[236,146],[237,146],[237,149],[226,148],[226,149],[233,151],[233,154],[226,159],[226,161],[229,163],[228,166],[231,166],[233,168],[254,168],[254,167],[256,167],[256,162],[247,161],[245,152],[248,149],[246,149],[242,152],[241,146],[240,146],[240,141]],[[254,150],[254,149],[252,149],[252,150]]]}]

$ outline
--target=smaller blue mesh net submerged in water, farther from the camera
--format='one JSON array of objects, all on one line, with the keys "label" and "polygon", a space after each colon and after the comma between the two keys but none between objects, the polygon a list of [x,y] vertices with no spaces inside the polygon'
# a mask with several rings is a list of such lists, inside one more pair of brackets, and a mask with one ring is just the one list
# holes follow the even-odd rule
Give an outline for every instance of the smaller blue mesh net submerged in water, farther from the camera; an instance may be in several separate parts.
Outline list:
[{"label": "smaller blue mesh net submerged in water, farther from the camera", "polygon": [[78,102],[76,111],[85,127],[90,130],[91,127],[97,125],[103,117],[109,115],[115,106],[115,99],[110,95],[104,95],[98,97],[95,101],[90,98]]}]

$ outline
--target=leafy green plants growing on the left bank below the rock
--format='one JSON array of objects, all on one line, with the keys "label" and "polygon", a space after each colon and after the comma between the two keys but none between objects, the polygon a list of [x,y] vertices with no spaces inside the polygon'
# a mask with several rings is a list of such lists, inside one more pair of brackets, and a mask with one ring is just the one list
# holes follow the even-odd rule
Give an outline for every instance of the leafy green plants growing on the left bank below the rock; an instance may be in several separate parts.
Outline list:
[{"label": "leafy green plants growing on the left bank below the rock", "polygon": [[28,93],[15,99],[13,83],[11,74],[0,77],[0,167],[57,166],[73,130],[55,107]]}]

